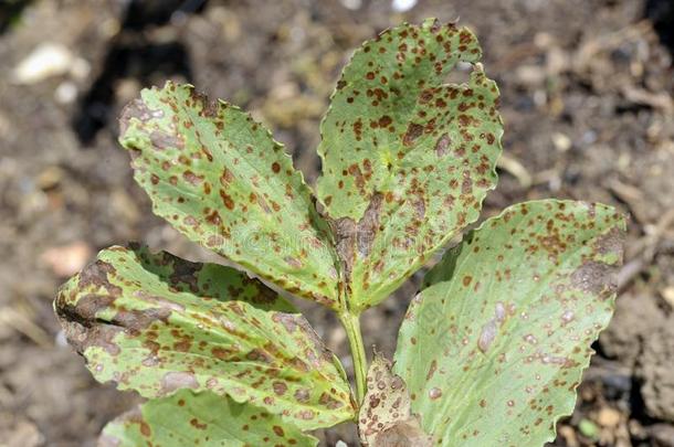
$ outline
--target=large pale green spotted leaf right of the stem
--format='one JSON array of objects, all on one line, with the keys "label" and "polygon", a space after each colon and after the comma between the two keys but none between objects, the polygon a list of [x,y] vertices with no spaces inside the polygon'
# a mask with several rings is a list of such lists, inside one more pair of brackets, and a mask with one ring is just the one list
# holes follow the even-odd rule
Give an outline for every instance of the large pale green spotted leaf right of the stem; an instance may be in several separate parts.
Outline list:
[{"label": "large pale green spotted leaf right of the stem", "polygon": [[402,323],[393,371],[438,445],[554,439],[613,312],[624,226],[601,204],[522,203],[429,273]]}]

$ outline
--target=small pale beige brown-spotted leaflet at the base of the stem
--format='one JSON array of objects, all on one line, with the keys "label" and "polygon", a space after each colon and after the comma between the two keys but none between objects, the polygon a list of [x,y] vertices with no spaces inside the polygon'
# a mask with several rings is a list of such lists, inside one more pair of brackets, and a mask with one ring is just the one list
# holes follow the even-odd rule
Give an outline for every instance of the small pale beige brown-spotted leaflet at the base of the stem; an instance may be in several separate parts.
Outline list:
[{"label": "small pale beige brown-spotted leaflet at the base of the stem", "polygon": [[377,354],[367,375],[367,392],[358,414],[358,433],[366,447],[431,447],[410,409],[404,381],[391,373],[391,362]]}]

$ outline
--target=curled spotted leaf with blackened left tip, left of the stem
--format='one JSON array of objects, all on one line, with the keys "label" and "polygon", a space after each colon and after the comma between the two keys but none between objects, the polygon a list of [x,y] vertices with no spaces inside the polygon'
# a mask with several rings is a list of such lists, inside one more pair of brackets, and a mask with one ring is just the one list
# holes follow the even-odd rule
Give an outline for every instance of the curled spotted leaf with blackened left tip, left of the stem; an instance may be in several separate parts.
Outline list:
[{"label": "curled spotted leaf with blackened left tip, left of the stem", "polygon": [[233,268],[112,247],[62,287],[55,308],[96,380],[120,390],[210,390],[302,429],[354,416],[344,370],[304,317]]}]

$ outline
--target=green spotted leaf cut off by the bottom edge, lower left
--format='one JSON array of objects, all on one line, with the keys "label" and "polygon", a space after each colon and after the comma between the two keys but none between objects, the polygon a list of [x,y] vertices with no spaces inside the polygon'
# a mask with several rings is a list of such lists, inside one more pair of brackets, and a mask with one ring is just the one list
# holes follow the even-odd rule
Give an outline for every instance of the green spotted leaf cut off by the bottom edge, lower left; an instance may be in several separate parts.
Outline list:
[{"label": "green spotted leaf cut off by the bottom edge, lower left", "polygon": [[181,390],[149,401],[109,423],[99,447],[314,447],[303,434],[263,408],[214,393]]}]

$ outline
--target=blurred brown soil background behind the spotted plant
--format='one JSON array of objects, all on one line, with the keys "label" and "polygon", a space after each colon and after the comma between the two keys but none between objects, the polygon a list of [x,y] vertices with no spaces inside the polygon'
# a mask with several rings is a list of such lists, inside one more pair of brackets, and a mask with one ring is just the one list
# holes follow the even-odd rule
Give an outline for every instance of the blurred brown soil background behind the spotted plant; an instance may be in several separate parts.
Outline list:
[{"label": "blurred brown soil background behind the spotted plant", "polygon": [[[674,446],[671,0],[0,1],[0,446],[94,445],[137,401],[95,383],[64,343],[52,312],[64,278],[127,241],[209,256],[150,213],[116,143],[120,107],[189,81],[266,123],[313,182],[318,121],[351,50],[426,17],[477,33],[503,94],[485,215],[558,196],[631,216],[617,315],[555,445]],[[368,344],[392,352],[420,276],[368,311]],[[303,308],[345,358],[335,319]],[[343,427],[325,445],[339,438],[356,445]]]}]

